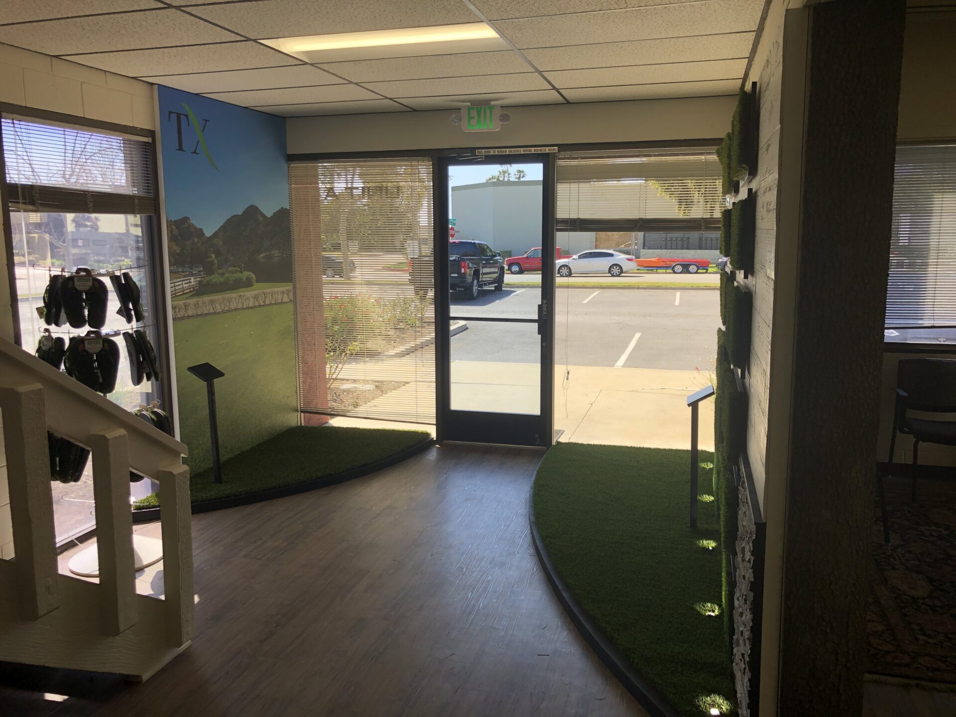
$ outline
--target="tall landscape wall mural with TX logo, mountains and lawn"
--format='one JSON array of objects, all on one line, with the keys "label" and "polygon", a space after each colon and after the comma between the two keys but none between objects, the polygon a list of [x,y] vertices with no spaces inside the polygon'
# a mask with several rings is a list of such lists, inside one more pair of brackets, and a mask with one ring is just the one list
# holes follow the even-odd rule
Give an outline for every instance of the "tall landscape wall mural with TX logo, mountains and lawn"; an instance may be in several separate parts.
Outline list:
[{"label": "tall landscape wall mural with TX logo, mountains and lawn", "polygon": [[285,120],[159,87],[180,438],[211,466],[208,361],[223,459],[296,423]]}]

